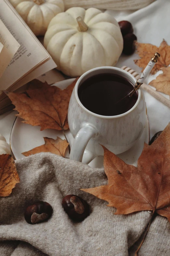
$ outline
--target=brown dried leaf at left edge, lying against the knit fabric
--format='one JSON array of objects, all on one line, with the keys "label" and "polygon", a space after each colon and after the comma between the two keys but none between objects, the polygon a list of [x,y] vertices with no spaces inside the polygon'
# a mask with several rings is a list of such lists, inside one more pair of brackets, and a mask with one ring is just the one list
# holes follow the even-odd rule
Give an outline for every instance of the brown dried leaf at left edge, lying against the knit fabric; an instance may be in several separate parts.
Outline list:
[{"label": "brown dried leaf at left edge, lying against the knit fabric", "polygon": [[9,196],[19,182],[13,157],[9,154],[0,155],[0,196]]}]

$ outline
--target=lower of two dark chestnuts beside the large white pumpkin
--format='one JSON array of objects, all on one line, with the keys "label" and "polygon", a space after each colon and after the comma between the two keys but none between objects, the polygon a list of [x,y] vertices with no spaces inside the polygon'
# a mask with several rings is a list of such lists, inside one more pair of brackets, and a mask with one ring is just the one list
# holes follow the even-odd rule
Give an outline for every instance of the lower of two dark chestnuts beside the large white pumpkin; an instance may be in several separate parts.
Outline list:
[{"label": "lower of two dark chestnuts beside the large white pumpkin", "polygon": [[123,53],[126,55],[133,54],[135,52],[135,41],[137,37],[134,34],[127,34],[123,37]]}]

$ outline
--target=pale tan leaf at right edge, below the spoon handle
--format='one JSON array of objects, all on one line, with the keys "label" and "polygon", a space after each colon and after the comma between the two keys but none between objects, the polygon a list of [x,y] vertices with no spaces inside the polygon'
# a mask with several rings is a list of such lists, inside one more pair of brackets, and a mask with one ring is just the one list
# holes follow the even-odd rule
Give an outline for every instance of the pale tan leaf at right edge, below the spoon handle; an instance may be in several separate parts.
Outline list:
[{"label": "pale tan leaf at right edge, below the spoon handle", "polygon": [[163,74],[152,80],[149,85],[154,86],[157,91],[170,95],[170,67],[161,68]]}]

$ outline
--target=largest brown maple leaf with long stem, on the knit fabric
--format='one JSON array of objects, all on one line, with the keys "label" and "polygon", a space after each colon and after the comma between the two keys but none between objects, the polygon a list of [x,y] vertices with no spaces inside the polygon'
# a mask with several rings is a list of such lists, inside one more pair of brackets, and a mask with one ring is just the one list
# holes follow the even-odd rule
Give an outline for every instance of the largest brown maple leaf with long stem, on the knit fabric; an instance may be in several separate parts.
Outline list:
[{"label": "largest brown maple leaf with long stem, on the knit fabric", "polygon": [[103,148],[108,184],[81,190],[109,202],[107,206],[117,209],[114,214],[152,211],[148,230],[155,213],[170,222],[170,124],[151,145],[144,145],[137,167]]}]

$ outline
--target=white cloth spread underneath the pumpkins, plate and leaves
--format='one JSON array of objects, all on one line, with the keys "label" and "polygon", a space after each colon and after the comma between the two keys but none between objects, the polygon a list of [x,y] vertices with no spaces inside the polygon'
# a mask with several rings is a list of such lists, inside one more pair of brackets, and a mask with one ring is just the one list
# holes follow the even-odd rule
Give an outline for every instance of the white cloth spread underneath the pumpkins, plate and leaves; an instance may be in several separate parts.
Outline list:
[{"label": "white cloth spread underneath the pumpkins, plate and leaves", "polygon": [[[170,44],[169,0],[156,0],[149,6],[137,11],[106,10],[106,12],[113,15],[118,22],[120,20],[130,21],[134,27],[134,33],[137,36],[138,42],[152,43],[159,46],[164,38]],[[133,61],[138,58],[137,54],[121,56],[116,66],[121,68],[123,65],[126,65],[140,73],[141,69]],[[149,76],[146,83],[149,83],[160,73],[161,71],[154,76]],[[147,92],[144,92],[144,94],[149,118],[150,137],[152,137],[157,131],[163,130],[170,121],[170,109]],[[170,98],[168,95],[166,97]],[[0,116],[0,133],[6,137],[8,143],[14,119],[14,111]]]}]

